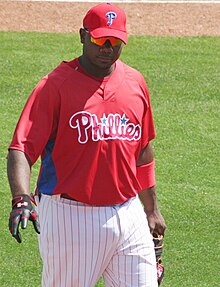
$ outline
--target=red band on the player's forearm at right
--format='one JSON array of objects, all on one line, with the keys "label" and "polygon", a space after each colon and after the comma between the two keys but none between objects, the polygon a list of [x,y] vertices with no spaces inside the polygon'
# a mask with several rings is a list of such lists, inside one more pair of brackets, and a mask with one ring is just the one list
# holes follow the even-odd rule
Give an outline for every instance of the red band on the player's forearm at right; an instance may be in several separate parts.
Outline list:
[{"label": "red band on the player's forearm at right", "polygon": [[146,189],[156,184],[155,159],[152,162],[137,166],[137,180],[141,189]]}]

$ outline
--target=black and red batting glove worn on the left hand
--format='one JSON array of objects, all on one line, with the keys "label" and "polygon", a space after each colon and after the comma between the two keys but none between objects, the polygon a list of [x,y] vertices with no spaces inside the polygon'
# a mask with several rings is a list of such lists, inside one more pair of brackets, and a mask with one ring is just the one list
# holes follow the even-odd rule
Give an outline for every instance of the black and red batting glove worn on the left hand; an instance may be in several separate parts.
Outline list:
[{"label": "black and red batting glove worn on the left hand", "polygon": [[22,229],[27,228],[28,220],[33,222],[35,231],[40,234],[38,215],[32,206],[30,196],[27,194],[18,195],[12,199],[12,211],[8,224],[11,235],[18,243],[21,243],[19,225],[21,223]]}]

